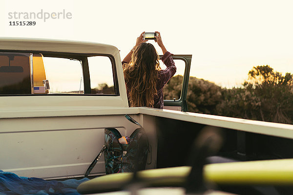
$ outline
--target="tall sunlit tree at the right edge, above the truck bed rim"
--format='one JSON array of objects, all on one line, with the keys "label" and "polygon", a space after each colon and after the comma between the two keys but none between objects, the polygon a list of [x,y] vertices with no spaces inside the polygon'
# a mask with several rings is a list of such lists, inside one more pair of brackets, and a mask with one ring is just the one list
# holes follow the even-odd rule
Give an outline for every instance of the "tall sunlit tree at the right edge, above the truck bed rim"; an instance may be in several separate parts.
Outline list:
[{"label": "tall sunlit tree at the right edge, above the truck bed rim", "polygon": [[227,91],[217,106],[219,115],[254,120],[293,123],[293,75],[257,66],[242,88]]}]

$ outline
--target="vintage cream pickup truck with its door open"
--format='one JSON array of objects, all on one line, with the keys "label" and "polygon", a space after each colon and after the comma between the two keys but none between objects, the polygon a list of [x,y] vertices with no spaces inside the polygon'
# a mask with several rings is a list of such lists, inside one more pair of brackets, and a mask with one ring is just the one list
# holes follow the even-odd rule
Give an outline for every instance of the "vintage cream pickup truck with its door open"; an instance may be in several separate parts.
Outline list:
[{"label": "vintage cream pickup truck with its door open", "polygon": [[[219,156],[293,158],[293,125],[186,112],[191,55],[173,59],[183,76],[181,95],[164,100],[163,110],[129,107],[115,46],[1,38],[0,170],[44,179],[84,176],[104,144],[105,128],[116,128],[122,136],[137,128],[126,114],[148,135],[146,169],[186,165],[191,144],[205,126],[225,132]],[[105,175],[103,157],[91,175]]]}]

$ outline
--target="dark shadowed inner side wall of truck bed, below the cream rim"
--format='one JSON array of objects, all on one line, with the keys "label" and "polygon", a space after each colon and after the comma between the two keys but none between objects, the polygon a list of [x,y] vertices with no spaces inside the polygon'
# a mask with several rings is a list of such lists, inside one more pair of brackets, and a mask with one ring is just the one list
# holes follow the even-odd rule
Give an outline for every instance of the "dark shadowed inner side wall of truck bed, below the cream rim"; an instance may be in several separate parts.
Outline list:
[{"label": "dark shadowed inner side wall of truck bed, below the cream rim", "polygon": [[[171,118],[156,117],[157,167],[188,165],[191,144],[206,126]],[[293,158],[293,139],[223,128],[224,144],[218,156],[234,160]]]}]

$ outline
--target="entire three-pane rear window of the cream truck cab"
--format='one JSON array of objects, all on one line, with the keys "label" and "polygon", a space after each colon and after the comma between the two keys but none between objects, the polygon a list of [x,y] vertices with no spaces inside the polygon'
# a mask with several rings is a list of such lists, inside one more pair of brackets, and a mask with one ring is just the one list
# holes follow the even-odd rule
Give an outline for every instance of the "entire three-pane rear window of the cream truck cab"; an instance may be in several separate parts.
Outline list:
[{"label": "entire three-pane rear window of the cream truck cab", "polygon": [[0,52],[0,96],[118,96],[113,57]]}]

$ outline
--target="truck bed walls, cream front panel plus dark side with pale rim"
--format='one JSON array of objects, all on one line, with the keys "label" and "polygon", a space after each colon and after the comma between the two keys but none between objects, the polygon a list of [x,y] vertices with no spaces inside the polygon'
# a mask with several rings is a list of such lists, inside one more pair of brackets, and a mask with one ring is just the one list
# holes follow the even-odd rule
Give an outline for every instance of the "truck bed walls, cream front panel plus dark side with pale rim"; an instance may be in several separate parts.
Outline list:
[{"label": "truck bed walls, cream front panel plus dark side with pale rim", "polygon": [[[51,112],[47,113],[49,114],[53,115]],[[67,112],[65,114],[69,115]],[[188,164],[188,157],[192,156],[191,143],[200,130],[209,124],[222,127],[225,132],[226,141],[219,151],[220,156],[236,160],[293,157],[293,140],[285,138],[286,134],[291,135],[289,133],[292,126],[276,125],[280,127],[279,131],[284,132],[282,138],[260,134],[263,132],[282,136],[281,133],[272,131],[278,130],[272,123],[148,108],[127,108],[90,110],[87,116],[2,117],[0,169],[20,176],[41,178],[83,176],[104,144],[105,127],[117,128],[122,136],[129,136],[138,128],[124,117],[125,114],[130,114],[141,123],[148,134],[151,154],[148,156],[147,169]],[[243,131],[227,127],[243,128]],[[254,130],[260,133],[251,133]],[[105,174],[104,156],[92,174]]]}]

